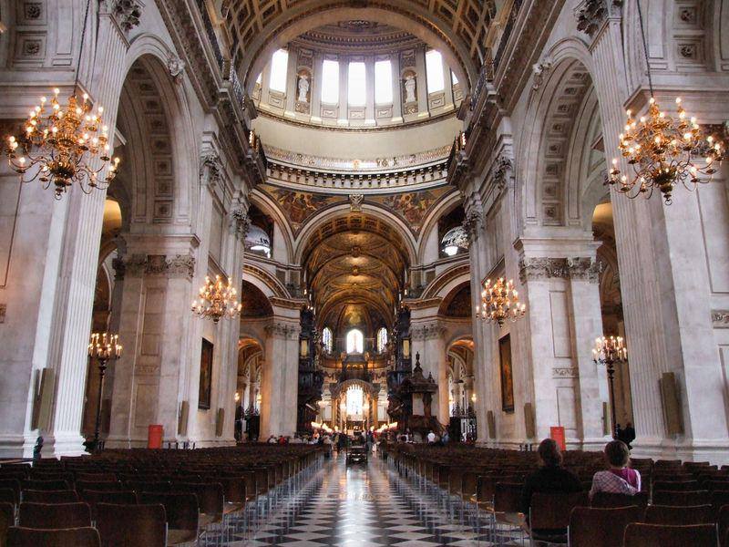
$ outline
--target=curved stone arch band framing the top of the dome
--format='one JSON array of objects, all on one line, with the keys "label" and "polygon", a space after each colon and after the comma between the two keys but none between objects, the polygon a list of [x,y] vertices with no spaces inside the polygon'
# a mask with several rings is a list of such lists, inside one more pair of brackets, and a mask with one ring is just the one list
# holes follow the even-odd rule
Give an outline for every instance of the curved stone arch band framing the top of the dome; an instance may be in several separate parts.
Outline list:
[{"label": "curved stone arch band framing the top of the dome", "polygon": [[[470,89],[475,85],[478,70],[469,55],[468,46],[459,37],[451,39],[453,31],[443,25],[442,19],[422,9],[415,13],[414,6],[410,3],[403,0],[375,1],[352,7],[351,2],[340,0],[328,5],[302,4],[285,10],[264,26],[248,44],[241,44],[244,52],[237,68],[249,93],[252,93],[256,77],[274,51],[317,26],[349,19],[366,19],[406,30],[438,49],[465,88]],[[229,31],[232,35],[237,34],[233,28],[229,28]]]}]

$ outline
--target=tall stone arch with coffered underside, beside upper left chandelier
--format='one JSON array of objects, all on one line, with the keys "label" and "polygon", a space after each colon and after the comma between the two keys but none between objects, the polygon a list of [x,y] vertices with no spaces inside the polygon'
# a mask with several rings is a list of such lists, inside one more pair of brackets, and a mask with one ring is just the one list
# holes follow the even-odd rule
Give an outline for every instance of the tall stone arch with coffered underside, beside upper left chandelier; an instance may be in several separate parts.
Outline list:
[{"label": "tall stone arch with coffered underside, beside upper left chandelier", "polygon": [[194,130],[181,87],[166,68],[172,54],[157,38],[141,35],[125,59],[118,129],[126,142],[115,184],[125,185],[131,222],[190,227],[197,208],[199,165]]}]

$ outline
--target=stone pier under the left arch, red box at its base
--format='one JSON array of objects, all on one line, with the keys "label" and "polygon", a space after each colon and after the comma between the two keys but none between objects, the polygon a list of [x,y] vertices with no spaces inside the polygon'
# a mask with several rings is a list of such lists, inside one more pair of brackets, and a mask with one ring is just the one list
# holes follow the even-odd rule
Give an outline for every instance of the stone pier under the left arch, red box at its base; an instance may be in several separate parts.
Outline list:
[{"label": "stone pier under the left arch, red box at its base", "polygon": [[[108,447],[145,446],[150,424],[163,426],[165,440],[178,439],[183,371],[193,358],[200,359],[190,354],[189,344],[190,301],[196,292],[194,240],[132,235],[125,239],[119,338],[126,351],[114,365]],[[189,419],[197,411],[195,395]]]}]

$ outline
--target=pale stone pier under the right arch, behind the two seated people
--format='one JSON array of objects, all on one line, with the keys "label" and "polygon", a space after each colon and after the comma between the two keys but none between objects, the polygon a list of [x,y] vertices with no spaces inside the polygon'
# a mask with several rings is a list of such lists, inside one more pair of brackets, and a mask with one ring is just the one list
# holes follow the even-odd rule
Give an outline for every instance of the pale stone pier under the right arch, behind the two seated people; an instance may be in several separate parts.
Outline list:
[{"label": "pale stone pier under the right arch, behind the two seated people", "polygon": [[[604,369],[598,370],[590,356],[602,328],[595,243],[553,241],[548,249],[544,244],[519,240],[517,245],[527,304],[536,437],[549,437],[551,426],[562,426],[568,443],[598,449],[606,439],[602,403],[608,399]],[[542,248],[537,251],[538,247]],[[580,254],[591,251],[591,256],[543,256],[558,249],[569,252],[570,247],[576,253],[581,247]]]}]

